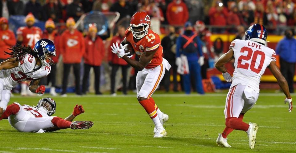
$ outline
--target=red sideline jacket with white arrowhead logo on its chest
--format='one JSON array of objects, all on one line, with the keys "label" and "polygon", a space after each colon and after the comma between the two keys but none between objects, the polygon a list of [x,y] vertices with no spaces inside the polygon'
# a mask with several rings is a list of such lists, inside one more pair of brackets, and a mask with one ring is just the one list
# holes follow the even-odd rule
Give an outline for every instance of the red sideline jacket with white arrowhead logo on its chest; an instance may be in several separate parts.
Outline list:
[{"label": "red sideline jacket with white arrowhead logo on its chest", "polygon": [[75,30],[72,34],[69,30],[62,33],[60,37],[60,51],[63,56],[63,63],[80,63],[85,52],[85,43],[82,33]]}]

